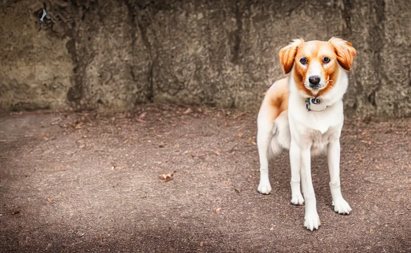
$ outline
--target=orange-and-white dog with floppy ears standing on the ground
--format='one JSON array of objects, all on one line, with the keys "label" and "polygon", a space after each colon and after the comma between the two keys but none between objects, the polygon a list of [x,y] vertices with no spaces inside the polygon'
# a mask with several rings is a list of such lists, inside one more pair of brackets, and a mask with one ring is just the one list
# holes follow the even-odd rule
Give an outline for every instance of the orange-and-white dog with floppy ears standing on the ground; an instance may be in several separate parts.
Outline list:
[{"label": "orange-and-white dog with floppy ears standing on the ground", "polygon": [[269,159],[289,150],[291,204],[302,205],[305,201],[304,226],[313,231],[321,223],[311,157],[327,155],[334,211],[351,211],[341,194],[339,139],[344,123],[342,97],[356,50],[350,42],[335,37],[328,42],[297,39],[282,48],[279,56],[288,76],[268,89],[257,118],[258,192],[271,192]]}]

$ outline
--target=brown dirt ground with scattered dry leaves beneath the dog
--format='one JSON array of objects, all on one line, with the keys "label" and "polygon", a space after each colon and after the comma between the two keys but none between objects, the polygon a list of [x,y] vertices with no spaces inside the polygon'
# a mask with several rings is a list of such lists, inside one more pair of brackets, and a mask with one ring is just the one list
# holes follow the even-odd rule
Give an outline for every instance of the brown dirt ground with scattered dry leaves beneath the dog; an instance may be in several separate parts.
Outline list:
[{"label": "brown dirt ground with scattered dry leaves beneath the dog", "polygon": [[287,153],[270,165],[272,193],[257,193],[256,113],[3,115],[0,252],[411,252],[411,119],[346,121],[353,211],[332,210],[326,160],[314,159],[322,225],[310,232],[289,203]]}]

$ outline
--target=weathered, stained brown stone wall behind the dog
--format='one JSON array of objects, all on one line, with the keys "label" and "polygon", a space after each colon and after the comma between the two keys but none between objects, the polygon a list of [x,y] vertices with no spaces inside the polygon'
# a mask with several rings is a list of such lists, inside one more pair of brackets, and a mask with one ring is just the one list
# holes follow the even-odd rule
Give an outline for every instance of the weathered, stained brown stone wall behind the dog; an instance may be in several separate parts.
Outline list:
[{"label": "weathered, stained brown stone wall behind the dog", "polygon": [[340,36],[358,53],[347,113],[411,116],[409,0],[67,0],[50,10],[63,20],[40,32],[41,1],[2,2],[4,109],[256,109],[283,77],[281,47]]}]

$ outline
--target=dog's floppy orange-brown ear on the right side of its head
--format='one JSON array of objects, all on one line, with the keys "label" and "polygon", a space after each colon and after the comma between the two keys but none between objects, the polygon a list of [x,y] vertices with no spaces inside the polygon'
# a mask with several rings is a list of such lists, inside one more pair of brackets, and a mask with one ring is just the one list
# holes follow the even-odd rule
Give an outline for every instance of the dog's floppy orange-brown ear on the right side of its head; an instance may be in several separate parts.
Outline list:
[{"label": "dog's floppy orange-brown ear on the right side of its head", "polygon": [[354,56],[356,55],[355,48],[350,42],[332,37],[328,41],[334,47],[334,52],[337,55],[337,61],[345,70],[351,69]]}]

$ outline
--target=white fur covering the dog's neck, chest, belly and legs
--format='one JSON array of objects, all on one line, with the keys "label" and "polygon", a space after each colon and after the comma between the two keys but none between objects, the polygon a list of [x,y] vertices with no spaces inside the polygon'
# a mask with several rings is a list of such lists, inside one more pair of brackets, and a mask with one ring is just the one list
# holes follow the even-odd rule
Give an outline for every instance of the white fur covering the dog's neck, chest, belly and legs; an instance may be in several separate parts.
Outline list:
[{"label": "white fur covering the dog's neck, chest, belly and legs", "polygon": [[[311,157],[328,156],[330,190],[334,211],[345,214],[350,206],[341,195],[340,186],[340,134],[344,122],[342,96],[348,87],[347,72],[339,67],[339,75],[326,94],[318,97],[327,108],[321,112],[305,108],[307,96],[296,88],[289,78],[290,95],[288,111],[284,111],[274,122],[266,120],[266,112],[260,109],[257,119],[257,145],[260,158],[260,183],[258,191],[269,194],[271,185],[268,177],[268,158],[289,149],[291,167],[291,203],[302,205],[305,201],[304,226],[309,230],[318,229],[320,219],[311,178]],[[290,76],[292,77],[293,70]],[[275,84],[273,84],[275,85]],[[301,180],[300,180],[301,179]],[[300,183],[304,199],[300,192]]]}]

